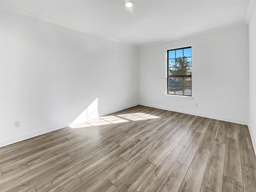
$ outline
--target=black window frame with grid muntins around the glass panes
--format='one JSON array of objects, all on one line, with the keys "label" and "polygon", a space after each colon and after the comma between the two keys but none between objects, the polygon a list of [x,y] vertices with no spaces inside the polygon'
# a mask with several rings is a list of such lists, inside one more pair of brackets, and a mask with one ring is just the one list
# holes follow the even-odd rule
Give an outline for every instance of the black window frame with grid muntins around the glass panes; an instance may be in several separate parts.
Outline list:
[{"label": "black window frame with grid muntins around the glass panes", "polygon": [[[184,49],[191,49],[191,57],[187,57],[187,58],[191,58],[191,65],[187,66],[187,67],[191,67],[191,75],[184,75],[184,70],[183,70],[183,75],[169,75],[169,60],[171,59],[175,59],[176,60],[176,50],[180,50],[182,49],[182,58],[184,58]],[[175,58],[170,58],[169,59],[169,52],[170,51],[175,51]],[[176,62],[176,61],[175,61]],[[184,68],[183,68],[184,69]],[[175,63],[175,71],[176,71],[176,63]],[[182,82],[182,87],[183,87],[183,94],[176,94],[176,81],[175,81],[175,94],[169,93],[169,78],[170,77],[190,77],[191,78],[191,95],[185,95],[185,90],[184,90],[184,82]],[[189,47],[181,47],[181,48],[176,48],[176,49],[169,49],[167,50],[167,95],[177,95],[177,96],[187,96],[187,97],[192,97],[192,46]]]}]

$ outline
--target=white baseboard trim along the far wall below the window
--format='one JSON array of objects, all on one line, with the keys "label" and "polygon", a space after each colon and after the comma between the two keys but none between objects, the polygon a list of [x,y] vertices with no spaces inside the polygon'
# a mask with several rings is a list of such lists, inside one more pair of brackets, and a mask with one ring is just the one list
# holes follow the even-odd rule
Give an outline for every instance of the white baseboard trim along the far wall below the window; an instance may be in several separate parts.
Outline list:
[{"label": "white baseboard trim along the far wall below the window", "polygon": [[238,124],[248,124],[248,120],[246,119],[238,119],[234,117],[227,117],[227,116],[221,116],[221,115],[216,115],[216,114],[210,114],[210,113],[204,113],[204,112],[199,112],[199,111],[192,111],[192,110],[187,110],[187,109],[181,109],[181,108],[173,108],[173,107],[168,107],[168,106],[163,106],[163,105],[156,105],[152,103],[144,103],[144,102],[139,102],[140,105],[147,106],[147,107],[154,107],[154,108],[159,108],[159,109],[164,109],[168,111],[176,111],[180,113],[186,113],[190,115],[196,115],[196,116],[202,116],[202,117],[207,117],[211,119],[218,119],[221,121],[228,121],[232,123],[238,123]]}]

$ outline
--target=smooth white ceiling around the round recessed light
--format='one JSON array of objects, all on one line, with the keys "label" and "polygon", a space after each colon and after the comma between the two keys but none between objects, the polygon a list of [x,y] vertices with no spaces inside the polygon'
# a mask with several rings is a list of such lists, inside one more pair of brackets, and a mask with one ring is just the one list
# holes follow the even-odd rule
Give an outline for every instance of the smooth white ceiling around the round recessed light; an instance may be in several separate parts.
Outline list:
[{"label": "smooth white ceiling around the round recessed light", "polygon": [[245,21],[249,1],[2,1],[134,45]]}]

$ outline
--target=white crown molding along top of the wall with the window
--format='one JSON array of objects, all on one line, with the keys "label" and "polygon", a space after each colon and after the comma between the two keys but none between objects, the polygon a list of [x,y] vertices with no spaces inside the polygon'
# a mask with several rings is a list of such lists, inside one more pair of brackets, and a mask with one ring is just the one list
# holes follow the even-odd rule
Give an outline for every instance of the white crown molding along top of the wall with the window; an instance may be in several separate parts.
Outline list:
[{"label": "white crown molding along top of the wall with the window", "polygon": [[162,41],[156,41],[156,42],[153,42],[153,43],[139,45],[139,48],[140,47],[147,47],[147,46],[151,46],[151,45],[156,45],[156,44],[167,43],[167,42],[170,42],[170,41],[175,41],[175,40],[184,39],[184,38],[188,38],[188,37],[204,35],[204,34],[207,34],[207,33],[211,33],[213,31],[224,30],[226,28],[242,27],[242,26],[247,26],[247,23],[245,23],[245,22],[236,23],[236,24],[227,25],[227,26],[223,26],[223,27],[219,27],[219,28],[213,28],[213,29],[209,29],[209,30],[205,30],[205,31],[200,31],[200,32],[197,32],[197,33],[192,33],[192,34],[188,34],[188,35],[184,35],[184,36],[173,37],[173,38],[165,39],[165,40],[162,40]]}]

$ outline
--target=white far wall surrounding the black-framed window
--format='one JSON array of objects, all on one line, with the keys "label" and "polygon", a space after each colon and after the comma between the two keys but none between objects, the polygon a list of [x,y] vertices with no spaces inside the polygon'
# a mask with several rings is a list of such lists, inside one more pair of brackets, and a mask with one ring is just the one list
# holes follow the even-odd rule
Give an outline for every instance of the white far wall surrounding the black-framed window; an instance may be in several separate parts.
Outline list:
[{"label": "white far wall surrounding the black-framed window", "polygon": [[[166,50],[185,46],[192,46],[193,100],[165,96]],[[248,60],[245,23],[140,47],[139,101],[151,107],[247,124]]]}]

